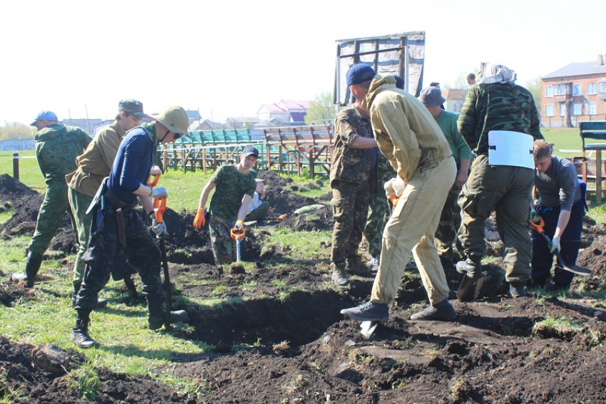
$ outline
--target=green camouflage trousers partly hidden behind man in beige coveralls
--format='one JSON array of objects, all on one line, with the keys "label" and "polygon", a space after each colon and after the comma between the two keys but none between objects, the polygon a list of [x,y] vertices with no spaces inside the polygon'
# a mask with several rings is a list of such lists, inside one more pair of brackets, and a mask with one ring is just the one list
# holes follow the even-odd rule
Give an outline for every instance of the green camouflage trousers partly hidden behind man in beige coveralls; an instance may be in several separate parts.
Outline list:
[{"label": "green camouflage trousers partly hidden behind man in beige coveralls", "polygon": [[[381,157],[383,160],[384,157]],[[376,194],[370,194],[369,215],[364,227],[364,238],[369,244],[369,254],[372,257],[381,255],[381,244],[383,244],[383,231],[385,224],[391,216],[391,202],[385,196],[384,185],[396,176],[396,172],[389,162],[381,162],[377,167]]]}]

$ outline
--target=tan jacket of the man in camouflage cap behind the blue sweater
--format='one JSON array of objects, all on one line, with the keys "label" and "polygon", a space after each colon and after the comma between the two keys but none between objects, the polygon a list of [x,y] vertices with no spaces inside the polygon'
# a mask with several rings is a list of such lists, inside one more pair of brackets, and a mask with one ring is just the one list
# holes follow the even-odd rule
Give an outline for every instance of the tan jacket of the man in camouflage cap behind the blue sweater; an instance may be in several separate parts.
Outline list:
[{"label": "tan jacket of the man in camouflage cap behind the blue sweater", "polygon": [[95,196],[101,181],[111,172],[124,134],[115,120],[93,139],[83,155],[76,157],[78,169],[66,175],[66,181],[72,190]]}]

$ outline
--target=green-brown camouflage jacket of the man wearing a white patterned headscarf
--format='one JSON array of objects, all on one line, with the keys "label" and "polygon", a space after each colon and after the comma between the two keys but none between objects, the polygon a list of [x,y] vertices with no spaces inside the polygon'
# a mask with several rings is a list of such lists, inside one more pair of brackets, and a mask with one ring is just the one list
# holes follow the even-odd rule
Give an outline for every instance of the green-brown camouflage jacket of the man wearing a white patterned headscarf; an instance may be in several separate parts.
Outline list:
[{"label": "green-brown camouflage jacket of the man wearing a white patterned headscarf", "polygon": [[458,131],[478,154],[488,153],[488,132],[513,130],[543,139],[535,100],[530,91],[513,83],[476,84],[467,93]]}]

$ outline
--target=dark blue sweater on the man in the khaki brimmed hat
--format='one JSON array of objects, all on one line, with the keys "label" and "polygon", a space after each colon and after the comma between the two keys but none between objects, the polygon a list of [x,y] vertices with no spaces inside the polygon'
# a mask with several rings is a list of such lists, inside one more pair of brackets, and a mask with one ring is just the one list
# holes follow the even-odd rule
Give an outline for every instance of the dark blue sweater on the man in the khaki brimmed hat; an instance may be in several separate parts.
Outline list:
[{"label": "dark blue sweater on the man in the khaki brimmed hat", "polygon": [[109,188],[118,199],[127,204],[137,202],[133,194],[140,185],[146,185],[153,165],[154,145],[143,128],[126,133],[109,175]]}]

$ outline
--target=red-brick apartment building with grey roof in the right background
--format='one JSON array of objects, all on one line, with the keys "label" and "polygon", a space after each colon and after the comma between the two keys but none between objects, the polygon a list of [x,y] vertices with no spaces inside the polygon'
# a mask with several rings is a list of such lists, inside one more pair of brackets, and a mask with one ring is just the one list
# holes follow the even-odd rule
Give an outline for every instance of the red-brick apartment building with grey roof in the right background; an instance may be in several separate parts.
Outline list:
[{"label": "red-brick apartment building with grey roof in the right background", "polygon": [[606,120],[606,55],[570,63],[541,79],[541,123],[572,128],[581,120]]}]

